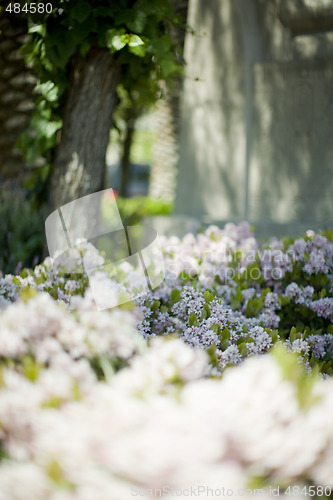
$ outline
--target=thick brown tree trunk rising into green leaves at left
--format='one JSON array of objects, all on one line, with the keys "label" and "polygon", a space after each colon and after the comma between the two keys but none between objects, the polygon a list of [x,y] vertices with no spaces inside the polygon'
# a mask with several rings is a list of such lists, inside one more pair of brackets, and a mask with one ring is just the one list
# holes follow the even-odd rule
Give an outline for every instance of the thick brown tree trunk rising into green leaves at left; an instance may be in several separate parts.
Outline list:
[{"label": "thick brown tree trunk rising into green leaves at left", "polygon": [[92,49],[85,59],[74,58],[50,180],[50,211],[103,189],[119,73],[106,49]]}]

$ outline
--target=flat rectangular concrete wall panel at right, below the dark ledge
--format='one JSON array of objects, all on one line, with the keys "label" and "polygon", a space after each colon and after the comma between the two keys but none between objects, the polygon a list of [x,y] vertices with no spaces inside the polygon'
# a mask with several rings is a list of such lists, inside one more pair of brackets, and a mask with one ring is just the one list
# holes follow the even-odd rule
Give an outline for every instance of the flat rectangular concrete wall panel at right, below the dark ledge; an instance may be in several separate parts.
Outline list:
[{"label": "flat rectangular concrete wall panel at right, below the dark ledge", "polygon": [[253,219],[331,219],[332,77],[327,61],[255,66]]}]

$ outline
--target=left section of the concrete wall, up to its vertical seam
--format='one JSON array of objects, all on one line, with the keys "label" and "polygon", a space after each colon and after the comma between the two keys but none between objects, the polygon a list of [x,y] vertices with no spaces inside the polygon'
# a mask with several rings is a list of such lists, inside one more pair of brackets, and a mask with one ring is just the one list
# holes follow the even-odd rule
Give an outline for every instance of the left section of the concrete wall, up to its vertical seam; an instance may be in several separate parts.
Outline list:
[{"label": "left section of the concrete wall, up to its vertical seam", "polygon": [[195,0],[188,23],[196,34],[185,44],[176,213],[240,216],[244,71],[236,4]]}]

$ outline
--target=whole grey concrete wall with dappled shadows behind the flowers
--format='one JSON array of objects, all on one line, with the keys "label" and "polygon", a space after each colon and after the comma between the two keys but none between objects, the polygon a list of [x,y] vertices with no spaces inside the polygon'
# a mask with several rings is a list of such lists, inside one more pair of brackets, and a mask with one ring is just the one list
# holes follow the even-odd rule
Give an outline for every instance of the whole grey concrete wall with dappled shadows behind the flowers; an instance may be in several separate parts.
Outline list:
[{"label": "whole grey concrete wall with dappled shadows behind the flowers", "polygon": [[190,0],[188,24],[176,214],[333,227],[333,1]]}]

